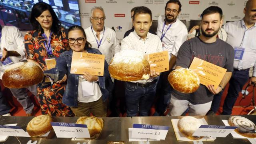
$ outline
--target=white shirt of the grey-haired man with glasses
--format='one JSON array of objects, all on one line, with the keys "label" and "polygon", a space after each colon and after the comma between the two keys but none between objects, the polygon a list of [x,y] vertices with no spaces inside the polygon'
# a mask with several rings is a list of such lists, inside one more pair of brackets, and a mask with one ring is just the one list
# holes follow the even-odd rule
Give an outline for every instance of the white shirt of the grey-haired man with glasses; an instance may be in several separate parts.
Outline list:
[{"label": "white shirt of the grey-haired man with glasses", "polygon": [[[86,40],[92,44],[92,48],[97,49],[98,44],[96,41],[96,32],[92,26],[89,26],[84,31],[86,34]],[[109,64],[113,56],[120,51],[120,45],[116,37],[116,32],[111,28],[104,26],[104,29],[100,32],[100,40],[101,39],[102,42],[98,50],[100,50],[100,52],[105,55],[105,60]],[[100,43],[100,40],[98,40],[98,43]]]}]

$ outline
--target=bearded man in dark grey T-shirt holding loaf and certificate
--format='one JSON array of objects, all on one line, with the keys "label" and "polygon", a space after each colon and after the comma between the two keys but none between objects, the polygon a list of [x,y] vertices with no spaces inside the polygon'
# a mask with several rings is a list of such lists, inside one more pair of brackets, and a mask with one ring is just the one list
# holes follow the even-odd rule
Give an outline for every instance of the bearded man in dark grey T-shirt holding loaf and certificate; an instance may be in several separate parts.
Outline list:
[{"label": "bearded man in dark grey T-shirt holding loaf and certificate", "polygon": [[176,60],[176,69],[189,68],[194,57],[200,58],[227,69],[220,85],[214,89],[212,84],[200,84],[196,92],[190,94],[173,90],[170,100],[170,115],[180,116],[188,107],[190,115],[205,115],[210,110],[214,94],[226,86],[233,71],[234,49],[228,43],[216,38],[222,26],[222,10],[210,6],[202,13],[201,31],[198,37],[187,40],[180,46]]}]

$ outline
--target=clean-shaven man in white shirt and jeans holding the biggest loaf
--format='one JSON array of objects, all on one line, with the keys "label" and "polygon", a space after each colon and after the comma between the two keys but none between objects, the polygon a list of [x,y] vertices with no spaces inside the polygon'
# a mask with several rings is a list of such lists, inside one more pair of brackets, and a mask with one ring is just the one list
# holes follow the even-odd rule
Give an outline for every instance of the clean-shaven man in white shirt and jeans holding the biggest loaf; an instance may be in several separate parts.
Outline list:
[{"label": "clean-shaven man in white shirt and jeans holding the biggest loaf", "polygon": [[[134,10],[133,15],[134,32],[125,37],[120,49],[137,50],[143,54],[151,54],[162,51],[162,43],[158,36],[148,32],[152,25],[152,12],[144,6]],[[150,70],[150,79],[126,82],[126,108],[127,116],[148,116],[156,94],[156,77],[160,74]]]}]

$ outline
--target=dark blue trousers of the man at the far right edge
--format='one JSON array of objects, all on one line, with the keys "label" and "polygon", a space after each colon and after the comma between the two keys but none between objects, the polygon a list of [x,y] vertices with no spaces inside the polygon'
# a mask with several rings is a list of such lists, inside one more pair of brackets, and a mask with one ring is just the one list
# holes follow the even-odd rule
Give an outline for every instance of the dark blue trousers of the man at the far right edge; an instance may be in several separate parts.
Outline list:
[{"label": "dark blue trousers of the man at the far right edge", "polygon": [[239,92],[244,84],[249,80],[249,68],[246,70],[234,69],[229,81],[228,94],[223,104],[222,115],[231,115],[233,106],[236,102]]}]

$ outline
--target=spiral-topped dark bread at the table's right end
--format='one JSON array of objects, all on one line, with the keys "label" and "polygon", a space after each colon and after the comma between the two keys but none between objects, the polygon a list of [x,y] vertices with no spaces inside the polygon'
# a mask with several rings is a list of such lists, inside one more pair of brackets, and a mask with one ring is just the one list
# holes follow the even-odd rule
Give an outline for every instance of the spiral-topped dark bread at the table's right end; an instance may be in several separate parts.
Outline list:
[{"label": "spiral-topped dark bread at the table's right end", "polygon": [[242,116],[230,116],[228,118],[228,124],[230,126],[238,126],[236,133],[245,136],[247,138],[256,138],[256,126],[255,124]]}]

